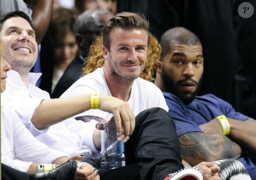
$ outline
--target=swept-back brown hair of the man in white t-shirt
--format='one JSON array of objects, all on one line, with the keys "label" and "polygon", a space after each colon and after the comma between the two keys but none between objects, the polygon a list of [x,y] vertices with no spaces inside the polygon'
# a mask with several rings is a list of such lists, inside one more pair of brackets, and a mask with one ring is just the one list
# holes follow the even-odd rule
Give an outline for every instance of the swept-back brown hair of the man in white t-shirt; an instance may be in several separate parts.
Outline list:
[{"label": "swept-back brown hair of the man in white t-shirt", "polygon": [[[149,23],[143,14],[132,12],[121,12],[115,17],[111,18],[109,22],[103,27],[103,45],[110,51],[109,35],[112,29],[144,29],[149,35]],[[149,42],[149,38],[148,38]]]}]

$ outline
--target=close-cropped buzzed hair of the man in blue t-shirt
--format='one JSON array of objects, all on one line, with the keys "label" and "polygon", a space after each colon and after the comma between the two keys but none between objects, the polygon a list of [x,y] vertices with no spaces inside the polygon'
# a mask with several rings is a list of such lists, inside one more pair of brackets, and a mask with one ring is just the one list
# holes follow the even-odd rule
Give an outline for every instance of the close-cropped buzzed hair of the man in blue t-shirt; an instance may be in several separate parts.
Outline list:
[{"label": "close-cropped buzzed hair of the man in blue t-shirt", "polygon": [[167,30],[160,39],[162,47],[161,59],[170,53],[170,46],[173,43],[184,44],[186,46],[202,45],[199,38],[188,29],[175,27]]}]

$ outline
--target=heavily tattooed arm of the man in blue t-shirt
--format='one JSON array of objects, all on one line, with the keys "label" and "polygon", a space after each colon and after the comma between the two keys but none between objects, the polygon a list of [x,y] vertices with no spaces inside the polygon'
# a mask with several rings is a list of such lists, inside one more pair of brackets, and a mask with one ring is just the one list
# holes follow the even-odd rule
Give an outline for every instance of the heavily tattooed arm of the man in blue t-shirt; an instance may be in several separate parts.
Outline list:
[{"label": "heavily tattooed arm of the man in blue t-shirt", "polygon": [[179,137],[181,157],[192,166],[200,162],[219,159],[236,159],[241,156],[241,147],[228,137],[201,132],[186,133]]}]

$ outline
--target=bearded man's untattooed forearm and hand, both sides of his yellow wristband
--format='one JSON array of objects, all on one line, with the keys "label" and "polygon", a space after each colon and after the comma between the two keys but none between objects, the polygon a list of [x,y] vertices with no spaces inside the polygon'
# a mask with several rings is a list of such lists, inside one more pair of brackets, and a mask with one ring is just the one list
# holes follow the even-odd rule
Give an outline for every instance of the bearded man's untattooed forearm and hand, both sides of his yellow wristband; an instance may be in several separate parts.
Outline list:
[{"label": "bearded man's untattooed forearm and hand, both sides of his yellow wristband", "polygon": [[[239,121],[235,119],[227,118],[230,122],[230,134],[227,136],[234,142],[237,142],[241,147],[245,147],[246,150],[252,154],[256,153],[256,120],[247,119],[245,121]],[[221,123],[217,118],[211,120],[200,126],[204,133],[207,134],[223,134]]]}]

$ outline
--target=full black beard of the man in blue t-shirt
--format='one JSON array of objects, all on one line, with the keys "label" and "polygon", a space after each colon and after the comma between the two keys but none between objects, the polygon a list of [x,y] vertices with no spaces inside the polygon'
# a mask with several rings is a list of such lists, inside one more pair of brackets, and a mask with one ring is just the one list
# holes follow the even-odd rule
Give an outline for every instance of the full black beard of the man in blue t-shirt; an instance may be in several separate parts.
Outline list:
[{"label": "full black beard of the man in blue t-shirt", "polygon": [[[181,81],[187,81],[190,78],[186,78],[183,79]],[[192,80],[192,79],[190,79]],[[202,78],[199,80],[199,82],[197,83],[197,88],[195,90],[195,92],[193,92],[190,96],[186,96],[185,94],[180,93],[177,90],[177,87],[175,85],[175,83],[173,82],[173,79],[171,79],[165,72],[164,69],[162,69],[162,82],[163,82],[163,86],[164,89],[166,90],[166,92],[174,94],[175,96],[177,96],[185,105],[190,104],[192,101],[194,101],[196,95],[198,94],[201,85],[202,85]],[[177,82],[179,83],[179,82]]]}]

